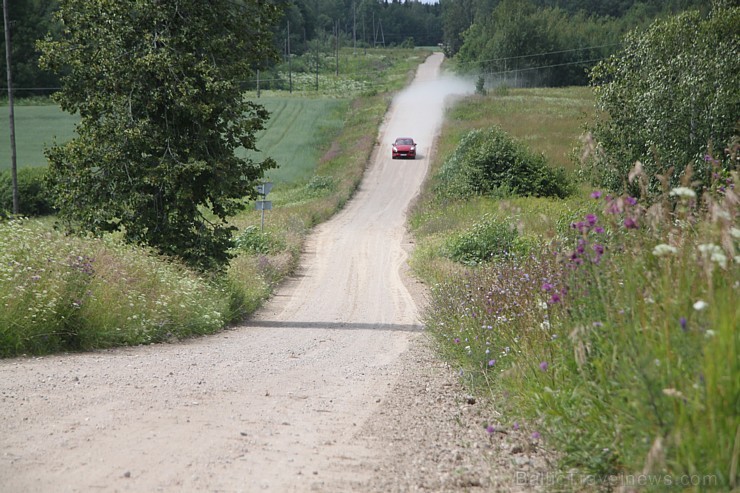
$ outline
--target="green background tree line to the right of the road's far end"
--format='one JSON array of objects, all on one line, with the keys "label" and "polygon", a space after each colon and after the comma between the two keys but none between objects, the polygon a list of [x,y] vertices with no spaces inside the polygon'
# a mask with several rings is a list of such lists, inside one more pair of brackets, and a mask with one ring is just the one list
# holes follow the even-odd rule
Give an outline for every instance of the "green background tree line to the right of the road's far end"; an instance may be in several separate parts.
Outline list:
[{"label": "green background tree line to the right of the road's far end", "polygon": [[588,83],[589,70],[623,36],[703,0],[442,0],[444,45],[489,85]]}]

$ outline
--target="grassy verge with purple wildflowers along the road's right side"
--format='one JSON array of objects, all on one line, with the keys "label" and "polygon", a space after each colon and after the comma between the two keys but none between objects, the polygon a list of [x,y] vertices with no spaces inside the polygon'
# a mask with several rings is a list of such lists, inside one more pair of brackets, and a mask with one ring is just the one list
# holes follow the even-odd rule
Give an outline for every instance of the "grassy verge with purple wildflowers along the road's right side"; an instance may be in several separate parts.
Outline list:
[{"label": "grassy verge with purple wildflowers along the road's right side", "polygon": [[[699,202],[687,186],[653,204],[584,185],[567,199],[435,196],[435,175],[465,132],[493,124],[575,173],[568,157],[590,107],[585,89],[503,90],[450,112],[411,218],[412,267],[432,291],[427,329],[472,392],[490,397],[487,423],[523,427],[559,452],[554,487],[731,489],[740,455],[733,192]],[[490,224],[506,227],[481,234]],[[524,253],[451,259],[460,238],[507,232]]]}]

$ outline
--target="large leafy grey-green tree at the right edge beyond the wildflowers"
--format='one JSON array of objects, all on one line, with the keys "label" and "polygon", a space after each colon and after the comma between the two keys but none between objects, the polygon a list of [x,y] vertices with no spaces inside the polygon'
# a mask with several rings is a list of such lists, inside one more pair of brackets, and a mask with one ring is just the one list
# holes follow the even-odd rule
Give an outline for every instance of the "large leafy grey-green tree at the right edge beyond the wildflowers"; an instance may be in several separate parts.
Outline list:
[{"label": "large leafy grey-green tree at the right edge beyond the wildflowers", "polygon": [[731,3],[633,32],[622,53],[594,69],[602,117],[593,133],[604,152],[587,169],[598,184],[623,190],[636,161],[651,177],[649,192],[660,191],[659,176],[676,186],[689,165],[704,186],[735,168],[724,153],[740,123],[740,7]]}]

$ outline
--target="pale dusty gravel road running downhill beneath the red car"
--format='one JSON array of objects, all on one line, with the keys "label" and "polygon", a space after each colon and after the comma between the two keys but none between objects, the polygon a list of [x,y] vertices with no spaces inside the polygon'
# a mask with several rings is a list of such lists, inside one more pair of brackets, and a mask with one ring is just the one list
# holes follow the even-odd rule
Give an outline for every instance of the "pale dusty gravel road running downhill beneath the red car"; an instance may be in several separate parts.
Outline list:
[{"label": "pale dusty gravel road running downhill beneath the red car", "polygon": [[[0,361],[0,491],[484,491],[534,467],[482,429],[406,275],[443,103],[472,89],[441,61],[394,99],[356,197],[243,327]],[[420,143],[416,160],[391,159],[397,136]]]}]

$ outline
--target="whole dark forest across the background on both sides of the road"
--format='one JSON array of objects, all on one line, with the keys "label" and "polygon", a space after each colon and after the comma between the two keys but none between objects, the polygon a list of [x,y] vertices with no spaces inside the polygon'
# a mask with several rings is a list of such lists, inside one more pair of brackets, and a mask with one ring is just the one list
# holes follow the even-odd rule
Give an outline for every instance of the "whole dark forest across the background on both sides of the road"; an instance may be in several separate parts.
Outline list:
[{"label": "whole dark forest across the background on both sides of the road", "polygon": [[[279,78],[288,60],[303,55],[307,62],[291,69],[315,70],[311,63],[319,58],[310,54],[329,54],[337,46],[443,46],[460,70],[510,86],[585,85],[587,71],[615,53],[630,30],[709,8],[702,0],[272,1],[282,12],[272,28],[282,57],[255,67],[266,78]],[[57,7],[57,0],[14,0],[9,6],[16,97],[48,95],[59,87],[57,75],[39,68],[37,48],[38,40],[60,30],[53,17]],[[5,36],[0,47],[5,53]],[[0,70],[6,73],[5,57]],[[5,93],[6,81],[0,86]]]}]

